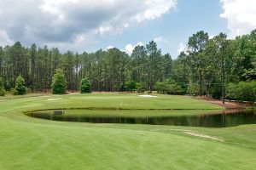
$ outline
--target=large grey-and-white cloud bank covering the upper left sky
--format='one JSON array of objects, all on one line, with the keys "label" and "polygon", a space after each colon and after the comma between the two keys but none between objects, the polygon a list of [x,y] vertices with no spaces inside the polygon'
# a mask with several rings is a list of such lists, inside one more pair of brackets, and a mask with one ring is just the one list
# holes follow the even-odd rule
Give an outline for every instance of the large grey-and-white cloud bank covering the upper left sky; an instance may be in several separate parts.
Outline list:
[{"label": "large grey-and-white cloud bank covering the upper left sky", "polygon": [[176,5],[177,0],[1,0],[0,31],[8,41],[1,37],[0,43],[85,47],[96,35],[159,19]]}]

